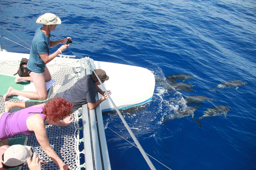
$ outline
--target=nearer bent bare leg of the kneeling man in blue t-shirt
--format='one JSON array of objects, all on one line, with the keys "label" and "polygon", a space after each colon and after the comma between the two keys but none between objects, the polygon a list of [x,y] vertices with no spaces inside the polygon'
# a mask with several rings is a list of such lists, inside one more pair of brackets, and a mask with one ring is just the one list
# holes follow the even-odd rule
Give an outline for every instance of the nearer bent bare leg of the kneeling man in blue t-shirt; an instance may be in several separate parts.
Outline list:
[{"label": "nearer bent bare leg of the kneeling man in blue t-shirt", "polygon": [[12,95],[20,95],[29,99],[36,99],[36,100],[44,100],[47,98],[47,88],[45,84],[45,79],[43,73],[34,73],[31,72],[29,74],[34,82],[36,92],[33,91],[20,91],[16,90],[13,87],[9,87],[7,93],[3,96],[4,100],[6,101],[7,97]]}]

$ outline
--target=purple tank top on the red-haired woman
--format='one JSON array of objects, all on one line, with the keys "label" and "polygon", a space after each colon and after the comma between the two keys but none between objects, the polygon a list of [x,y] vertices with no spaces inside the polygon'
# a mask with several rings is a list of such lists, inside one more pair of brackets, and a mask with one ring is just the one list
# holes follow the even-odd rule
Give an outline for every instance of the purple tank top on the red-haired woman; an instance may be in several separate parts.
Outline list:
[{"label": "purple tank top on the red-haired woman", "polygon": [[0,117],[0,139],[7,139],[17,134],[31,135],[34,131],[30,131],[27,127],[27,119],[29,116],[39,114],[45,121],[45,116],[42,114],[44,106],[28,107],[15,113],[3,113]]}]

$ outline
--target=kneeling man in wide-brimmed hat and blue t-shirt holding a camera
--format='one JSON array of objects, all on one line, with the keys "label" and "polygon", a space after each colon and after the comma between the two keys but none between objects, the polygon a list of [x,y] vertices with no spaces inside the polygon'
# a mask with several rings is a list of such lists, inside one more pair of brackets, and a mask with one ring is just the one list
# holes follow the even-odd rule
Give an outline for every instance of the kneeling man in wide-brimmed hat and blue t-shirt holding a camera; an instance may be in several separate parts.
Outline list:
[{"label": "kneeling man in wide-brimmed hat and blue t-shirt holding a camera", "polygon": [[[29,70],[28,77],[17,77],[15,82],[33,81],[36,92],[34,91],[20,91],[13,87],[9,87],[7,93],[3,96],[4,100],[11,95],[20,95],[29,99],[45,100],[47,98],[47,88],[45,82],[51,80],[51,74],[46,67],[46,64],[53,60],[57,55],[62,53],[69,44],[65,41],[71,39],[67,37],[58,41],[50,41],[51,31],[56,29],[56,26],[61,24],[61,20],[54,14],[46,13],[40,16],[36,20],[37,24],[42,24],[43,27],[37,29],[35,36],[32,40],[30,56],[27,63],[27,69]],[[54,53],[49,54],[49,48],[56,46],[60,43],[64,45],[60,46]]]}]

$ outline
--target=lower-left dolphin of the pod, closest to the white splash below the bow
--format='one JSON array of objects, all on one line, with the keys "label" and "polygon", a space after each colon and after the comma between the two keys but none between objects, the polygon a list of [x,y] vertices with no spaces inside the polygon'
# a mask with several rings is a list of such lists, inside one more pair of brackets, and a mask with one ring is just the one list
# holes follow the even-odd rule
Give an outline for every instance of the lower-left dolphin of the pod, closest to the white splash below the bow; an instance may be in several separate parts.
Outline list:
[{"label": "lower-left dolphin of the pod, closest to the white splash below the bow", "polygon": [[176,119],[176,118],[183,118],[186,116],[192,115],[192,118],[194,118],[194,112],[198,109],[198,106],[188,106],[185,109],[180,109],[178,112],[174,114],[167,115],[164,118],[164,124],[166,125],[170,120]]}]

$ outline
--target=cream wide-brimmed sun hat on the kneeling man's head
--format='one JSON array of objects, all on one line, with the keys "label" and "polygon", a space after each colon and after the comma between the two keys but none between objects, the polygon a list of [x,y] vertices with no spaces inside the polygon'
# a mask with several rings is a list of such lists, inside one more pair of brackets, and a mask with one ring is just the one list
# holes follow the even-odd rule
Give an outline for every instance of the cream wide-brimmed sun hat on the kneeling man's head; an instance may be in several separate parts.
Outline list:
[{"label": "cream wide-brimmed sun hat on the kneeling man's head", "polygon": [[61,20],[59,17],[57,17],[54,14],[51,13],[45,13],[44,15],[41,15],[37,20],[37,24],[43,24],[43,25],[59,25],[61,24]]}]

